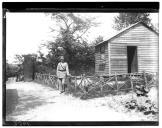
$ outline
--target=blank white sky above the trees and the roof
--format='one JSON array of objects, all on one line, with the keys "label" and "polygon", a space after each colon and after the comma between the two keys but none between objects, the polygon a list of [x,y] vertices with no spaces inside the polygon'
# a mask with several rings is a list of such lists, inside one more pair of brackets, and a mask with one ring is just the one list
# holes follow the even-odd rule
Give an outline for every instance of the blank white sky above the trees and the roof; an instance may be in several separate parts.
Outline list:
[{"label": "blank white sky above the trees and the roof", "polygon": [[[86,34],[89,42],[99,35],[104,39],[116,33],[112,28],[114,17],[118,13],[80,13],[85,17],[96,17],[97,27],[91,28]],[[150,15],[152,23],[157,25],[158,13]],[[54,26],[51,18],[44,13],[10,13],[6,15],[6,59],[9,63],[14,62],[16,54],[37,53],[40,45],[47,40],[53,40],[54,33],[50,27]],[[45,54],[46,49],[41,49]]]}]

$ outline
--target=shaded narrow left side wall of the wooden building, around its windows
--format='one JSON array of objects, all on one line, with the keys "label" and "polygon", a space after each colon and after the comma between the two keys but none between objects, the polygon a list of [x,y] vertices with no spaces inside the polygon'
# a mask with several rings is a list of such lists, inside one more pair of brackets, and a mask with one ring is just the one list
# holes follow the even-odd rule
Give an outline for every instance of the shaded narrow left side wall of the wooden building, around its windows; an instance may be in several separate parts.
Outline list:
[{"label": "shaded narrow left side wall of the wooden building, around its windows", "polygon": [[[105,60],[101,59],[101,53],[100,53],[100,47],[104,45],[105,46]],[[95,73],[98,75],[103,75],[103,74],[109,74],[109,55],[108,55],[108,43],[103,43],[95,48]],[[99,65],[101,63],[105,63],[105,70],[100,71],[99,70]]]}]

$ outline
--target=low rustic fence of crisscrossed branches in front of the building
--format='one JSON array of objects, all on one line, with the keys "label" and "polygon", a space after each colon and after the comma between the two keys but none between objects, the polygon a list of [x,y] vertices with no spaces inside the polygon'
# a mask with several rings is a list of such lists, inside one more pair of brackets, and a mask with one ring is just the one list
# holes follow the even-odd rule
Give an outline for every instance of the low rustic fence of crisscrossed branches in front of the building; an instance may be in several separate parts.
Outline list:
[{"label": "low rustic fence of crisscrossed branches in front of the building", "polygon": [[[157,85],[157,73],[128,73],[128,74],[112,74],[103,76],[70,76],[68,77],[68,86],[74,88],[79,87],[81,91],[89,93],[93,89],[99,88],[100,93],[108,91],[134,90],[134,85],[143,84],[148,88]],[[50,74],[35,73],[35,80],[43,84],[52,85],[59,88],[57,84],[57,76]]]}]

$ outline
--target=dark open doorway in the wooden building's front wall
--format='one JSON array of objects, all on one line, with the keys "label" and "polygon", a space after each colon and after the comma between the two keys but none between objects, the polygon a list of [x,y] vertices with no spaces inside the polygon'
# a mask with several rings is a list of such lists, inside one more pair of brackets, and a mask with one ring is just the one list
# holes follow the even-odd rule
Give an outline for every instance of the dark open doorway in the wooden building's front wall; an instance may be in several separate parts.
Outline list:
[{"label": "dark open doorway in the wooden building's front wall", "polygon": [[137,46],[127,46],[128,73],[138,72]]}]

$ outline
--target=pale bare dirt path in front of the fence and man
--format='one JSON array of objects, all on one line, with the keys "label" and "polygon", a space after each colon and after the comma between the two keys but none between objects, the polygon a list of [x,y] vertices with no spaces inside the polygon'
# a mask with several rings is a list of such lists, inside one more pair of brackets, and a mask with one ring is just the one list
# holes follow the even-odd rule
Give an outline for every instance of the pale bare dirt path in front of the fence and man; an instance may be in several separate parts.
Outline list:
[{"label": "pale bare dirt path in front of the fence and man", "polygon": [[18,104],[6,120],[12,121],[137,121],[140,115],[119,113],[108,103],[110,97],[80,100],[34,82],[9,82],[17,89]]}]

